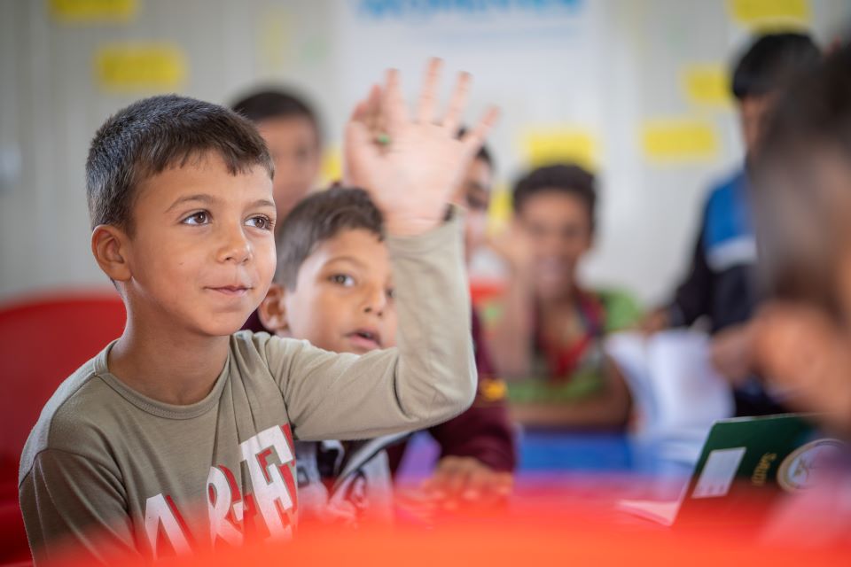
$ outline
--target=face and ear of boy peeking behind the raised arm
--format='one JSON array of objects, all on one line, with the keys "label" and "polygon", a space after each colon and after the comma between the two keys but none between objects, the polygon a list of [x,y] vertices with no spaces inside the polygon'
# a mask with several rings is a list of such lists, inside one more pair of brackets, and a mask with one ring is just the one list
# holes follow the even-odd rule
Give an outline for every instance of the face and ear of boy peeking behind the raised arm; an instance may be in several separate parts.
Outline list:
[{"label": "face and ear of boy peeking behind the raised arm", "polygon": [[261,318],[278,335],[306,338],[337,353],[394,346],[396,310],[386,244],[366,229],[340,231],[304,260],[294,290],[272,285]]}]

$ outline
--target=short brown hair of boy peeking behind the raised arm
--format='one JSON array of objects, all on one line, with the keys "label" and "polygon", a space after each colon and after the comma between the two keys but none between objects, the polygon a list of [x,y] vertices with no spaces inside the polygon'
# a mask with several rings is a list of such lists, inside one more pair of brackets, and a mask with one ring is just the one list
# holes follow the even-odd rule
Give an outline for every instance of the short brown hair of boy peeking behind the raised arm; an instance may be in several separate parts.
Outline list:
[{"label": "short brown hair of boy peeking behind the raised arm", "polygon": [[342,230],[354,229],[384,239],[384,219],[366,191],[332,187],[309,195],[280,225],[275,282],[294,290],[301,264],[316,247]]}]

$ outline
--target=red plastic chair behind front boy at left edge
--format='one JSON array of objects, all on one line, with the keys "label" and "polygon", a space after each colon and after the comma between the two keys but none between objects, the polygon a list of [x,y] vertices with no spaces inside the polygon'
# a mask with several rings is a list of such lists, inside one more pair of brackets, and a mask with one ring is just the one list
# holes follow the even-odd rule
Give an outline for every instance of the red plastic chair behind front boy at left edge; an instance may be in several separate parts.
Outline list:
[{"label": "red plastic chair behind front boy at left edge", "polygon": [[110,291],[77,291],[0,304],[0,563],[27,560],[18,463],[27,435],[59,384],[118,338],[126,315]]}]

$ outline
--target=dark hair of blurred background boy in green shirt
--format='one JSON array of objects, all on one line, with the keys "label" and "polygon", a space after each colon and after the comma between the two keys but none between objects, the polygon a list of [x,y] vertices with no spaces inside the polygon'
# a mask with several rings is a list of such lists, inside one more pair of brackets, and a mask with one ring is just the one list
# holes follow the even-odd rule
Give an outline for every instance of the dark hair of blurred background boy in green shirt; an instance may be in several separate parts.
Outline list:
[{"label": "dark hair of blurred background boy in green shirt", "polygon": [[514,211],[519,213],[529,198],[543,192],[557,191],[580,198],[588,206],[591,230],[597,218],[597,183],[594,175],[575,164],[538,167],[514,185]]}]

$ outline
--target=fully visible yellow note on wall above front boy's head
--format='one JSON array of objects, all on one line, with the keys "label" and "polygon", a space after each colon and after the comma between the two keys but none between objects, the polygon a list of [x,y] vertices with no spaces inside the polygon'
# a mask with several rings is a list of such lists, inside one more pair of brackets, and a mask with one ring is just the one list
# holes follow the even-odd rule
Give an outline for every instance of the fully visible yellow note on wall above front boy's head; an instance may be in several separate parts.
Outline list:
[{"label": "fully visible yellow note on wall above front boy's head", "polygon": [[170,43],[113,44],[95,53],[98,85],[110,92],[178,90],[186,69],[183,50]]}]

